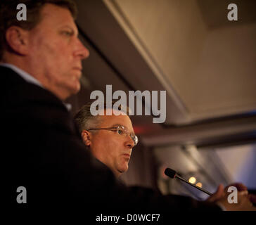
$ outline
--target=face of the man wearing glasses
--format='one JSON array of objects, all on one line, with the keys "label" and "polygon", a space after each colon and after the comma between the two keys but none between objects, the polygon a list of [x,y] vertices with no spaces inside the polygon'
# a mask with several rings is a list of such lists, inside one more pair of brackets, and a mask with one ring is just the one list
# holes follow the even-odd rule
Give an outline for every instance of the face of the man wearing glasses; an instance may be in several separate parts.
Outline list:
[{"label": "face of the man wearing glasses", "polygon": [[[132,122],[128,115],[100,115],[101,123],[97,128],[123,126],[134,134]],[[84,136],[82,136],[84,139]],[[90,134],[89,141],[84,139],[84,143],[89,146],[95,158],[107,165],[116,176],[124,173],[128,169],[129,160],[134,148],[132,138],[117,134],[117,131],[100,129],[96,133]]]}]

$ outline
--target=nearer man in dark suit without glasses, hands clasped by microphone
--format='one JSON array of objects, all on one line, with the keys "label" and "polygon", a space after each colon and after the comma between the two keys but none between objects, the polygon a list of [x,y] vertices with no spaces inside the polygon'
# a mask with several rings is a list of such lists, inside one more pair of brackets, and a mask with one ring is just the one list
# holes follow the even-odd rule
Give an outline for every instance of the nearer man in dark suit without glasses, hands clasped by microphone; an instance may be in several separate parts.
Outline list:
[{"label": "nearer man in dark suit without glasses, hands clasped by microphone", "polygon": [[[89,210],[122,212],[220,210],[215,204],[117,184],[110,169],[84,148],[63,104],[79,91],[81,60],[89,56],[77,38],[74,4],[23,2],[26,21],[16,20],[20,1],[1,1],[0,12],[2,193],[8,193],[8,206],[46,210],[86,204]],[[19,187],[25,188],[22,198]],[[213,197],[229,207],[220,196]],[[240,207],[251,209],[250,201]]]}]

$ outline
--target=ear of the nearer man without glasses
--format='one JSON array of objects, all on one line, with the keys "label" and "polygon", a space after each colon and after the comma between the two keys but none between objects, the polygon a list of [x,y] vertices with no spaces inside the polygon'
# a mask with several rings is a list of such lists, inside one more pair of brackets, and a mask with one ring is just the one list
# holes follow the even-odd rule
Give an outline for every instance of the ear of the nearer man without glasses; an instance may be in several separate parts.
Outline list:
[{"label": "ear of the nearer man without glasses", "polygon": [[11,49],[20,55],[28,53],[28,31],[21,27],[12,26],[6,30],[6,41]]}]

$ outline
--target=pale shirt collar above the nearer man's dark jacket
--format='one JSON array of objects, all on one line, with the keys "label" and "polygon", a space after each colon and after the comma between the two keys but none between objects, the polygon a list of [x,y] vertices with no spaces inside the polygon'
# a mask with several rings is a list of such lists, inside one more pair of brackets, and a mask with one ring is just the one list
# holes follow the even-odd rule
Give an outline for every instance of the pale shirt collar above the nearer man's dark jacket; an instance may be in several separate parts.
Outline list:
[{"label": "pale shirt collar above the nearer man's dark jacket", "polygon": [[[22,77],[23,79],[25,79],[26,82],[35,84],[37,86],[41,86],[41,88],[44,89],[44,86],[41,84],[41,82],[39,82],[38,79],[35,79],[34,77],[32,77],[30,74],[28,74],[27,72],[25,72],[24,70],[21,70],[20,68],[16,67],[13,64],[10,63],[0,63],[0,66],[4,66],[6,68],[10,68],[11,70],[15,71],[18,75],[20,75],[20,77]],[[65,107],[68,109],[68,111],[71,110],[72,105],[69,103],[63,103],[65,105]]]}]

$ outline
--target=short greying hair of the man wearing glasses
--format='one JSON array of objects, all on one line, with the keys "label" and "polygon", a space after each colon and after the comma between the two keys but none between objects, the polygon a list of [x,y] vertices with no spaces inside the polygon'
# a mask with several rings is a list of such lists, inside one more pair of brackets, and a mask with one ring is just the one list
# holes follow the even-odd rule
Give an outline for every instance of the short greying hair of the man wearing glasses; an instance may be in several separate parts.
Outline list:
[{"label": "short greying hair of the man wearing glasses", "polygon": [[[79,109],[77,114],[75,115],[75,123],[77,124],[77,127],[79,129],[79,133],[84,129],[92,129],[97,128],[98,124],[101,122],[99,120],[98,115],[94,116],[91,115],[91,104],[94,103],[94,101],[87,103],[86,105],[83,105],[82,108]],[[113,105],[115,104],[115,101],[113,101],[110,106],[111,109],[113,108]],[[104,110],[108,109],[109,106],[107,103],[104,103]],[[98,108],[96,108],[98,110]],[[121,105],[119,105],[118,110],[122,110]],[[126,113],[129,116],[129,107],[125,107],[125,111],[123,113]]]}]

